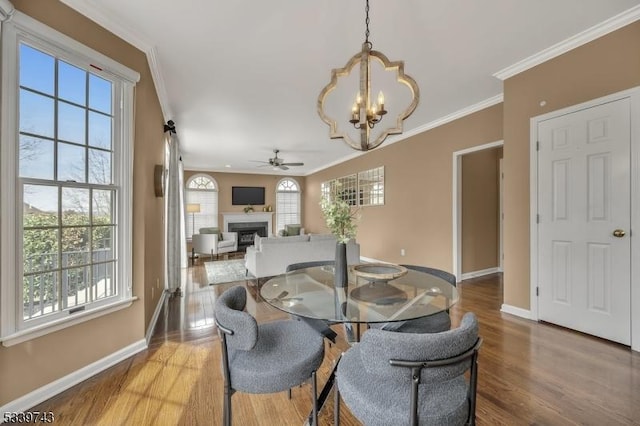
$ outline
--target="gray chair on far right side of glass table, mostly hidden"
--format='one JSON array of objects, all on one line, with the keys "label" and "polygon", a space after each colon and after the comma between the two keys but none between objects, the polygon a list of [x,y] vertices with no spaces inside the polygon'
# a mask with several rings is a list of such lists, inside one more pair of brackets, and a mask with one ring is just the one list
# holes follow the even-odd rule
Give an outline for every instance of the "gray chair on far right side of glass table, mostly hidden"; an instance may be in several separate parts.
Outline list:
[{"label": "gray chair on far right side of glass table, mostly hidden", "polygon": [[[428,274],[435,275],[447,280],[449,284],[453,286],[456,285],[456,276],[449,272],[429,268],[427,266],[402,266],[414,271],[426,272]],[[437,314],[429,315],[428,317],[416,318],[407,321],[371,324],[370,328],[398,331],[401,333],[440,333],[441,331],[447,331],[451,328],[451,318],[449,317],[449,310],[447,309],[446,311],[438,312]]]}]

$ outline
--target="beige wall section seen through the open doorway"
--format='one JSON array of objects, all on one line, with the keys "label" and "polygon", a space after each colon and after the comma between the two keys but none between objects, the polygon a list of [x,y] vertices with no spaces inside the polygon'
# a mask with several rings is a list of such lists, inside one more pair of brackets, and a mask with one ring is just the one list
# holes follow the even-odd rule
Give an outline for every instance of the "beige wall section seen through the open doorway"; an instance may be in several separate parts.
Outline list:
[{"label": "beige wall section seen through the open doorway", "polygon": [[462,273],[499,266],[501,157],[502,148],[462,156]]}]

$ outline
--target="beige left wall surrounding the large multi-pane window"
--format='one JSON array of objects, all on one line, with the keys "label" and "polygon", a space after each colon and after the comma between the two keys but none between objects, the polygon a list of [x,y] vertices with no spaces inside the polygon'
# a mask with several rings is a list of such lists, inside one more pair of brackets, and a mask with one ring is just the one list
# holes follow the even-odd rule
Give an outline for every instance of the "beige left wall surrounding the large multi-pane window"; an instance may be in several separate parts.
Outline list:
[{"label": "beige left wall surrounding the large multi-pane window", "polygon": [[160,298],[160,291],[152,287],[156,280],[163,286],[162,199],[153,192],[153,165],[162,163],[163,117],[145,54],[58,1],[12,3],[141,75],[133,147],[133,294],[140,300],[128,309],[26,343],[0,346],[0,406],[143,339]]}]

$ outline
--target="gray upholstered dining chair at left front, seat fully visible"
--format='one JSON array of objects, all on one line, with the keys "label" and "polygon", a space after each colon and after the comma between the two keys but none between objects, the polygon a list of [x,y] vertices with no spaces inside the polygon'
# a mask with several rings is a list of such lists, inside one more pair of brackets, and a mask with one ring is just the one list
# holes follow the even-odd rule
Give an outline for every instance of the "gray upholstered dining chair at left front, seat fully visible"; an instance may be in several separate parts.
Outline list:
[{"label": "gray upholstered dining chair at left front, seat fully visible", "polygon": [[231,396],[235,391],[290,392],[311,379],[313,424],[317,425],[316,371],[324,358],[322,336],[302,321],[258,325],[244,312],[246,302],[245,288],[235,286],[218,298],[214,309],[225,383],[224,424],[231,425]]}]

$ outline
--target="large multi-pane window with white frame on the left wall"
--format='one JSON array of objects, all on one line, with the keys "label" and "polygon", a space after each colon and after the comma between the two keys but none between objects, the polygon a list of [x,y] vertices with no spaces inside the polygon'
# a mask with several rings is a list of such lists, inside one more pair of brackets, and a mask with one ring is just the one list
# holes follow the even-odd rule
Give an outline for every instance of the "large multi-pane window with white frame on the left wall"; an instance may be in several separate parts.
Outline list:
[{"label": "large multi-pane window with white frame on the left wall", "polygon": [[139,76],[18,12],[2,30],[0,335],[7,344],[131,301]]}]

